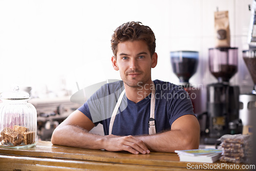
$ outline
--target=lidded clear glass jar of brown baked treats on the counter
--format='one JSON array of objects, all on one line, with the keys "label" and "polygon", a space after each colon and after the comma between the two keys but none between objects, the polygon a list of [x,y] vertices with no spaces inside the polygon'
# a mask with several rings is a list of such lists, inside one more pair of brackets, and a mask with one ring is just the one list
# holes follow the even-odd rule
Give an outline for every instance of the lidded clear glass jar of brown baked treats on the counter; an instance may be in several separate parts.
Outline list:
[{"label": "lidded clear glass jar of brown baked treats on the counter", "polygon": [[30,147],[35,145],[37,138],[37,112],[28,102],[29,94],[19,92],[2,93],[0,99],[0,146]]}]

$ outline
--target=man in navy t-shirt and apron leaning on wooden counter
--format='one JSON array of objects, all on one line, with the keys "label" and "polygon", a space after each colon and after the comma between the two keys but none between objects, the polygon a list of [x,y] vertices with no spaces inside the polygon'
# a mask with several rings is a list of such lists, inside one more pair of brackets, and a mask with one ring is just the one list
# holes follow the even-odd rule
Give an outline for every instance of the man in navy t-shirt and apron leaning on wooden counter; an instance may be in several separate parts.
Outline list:
[{"label": "man in navy t-shirt and apron leaning on wooden counter", "polygon": [[[128,22],[115,30],[111,45],[112,65],[122,81],[102,86],[59,124],[52,143],[132,154],[198,148],[200,128],[188,94],[151,80],[158,58],[153,31]],[[105,136],[89,133],[98,123]]]}]

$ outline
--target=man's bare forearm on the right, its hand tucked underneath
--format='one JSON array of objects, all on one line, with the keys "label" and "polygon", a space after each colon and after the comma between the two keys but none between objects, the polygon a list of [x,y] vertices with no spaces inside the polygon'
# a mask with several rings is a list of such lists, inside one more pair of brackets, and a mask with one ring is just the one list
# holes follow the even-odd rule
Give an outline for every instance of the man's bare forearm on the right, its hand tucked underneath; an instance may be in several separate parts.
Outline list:
[{"label": "man's bare forearm on the right, its hand tucked underneath", "polygon": [[181,149],[196,149],[199,146],[199,134],[189,134],[172,130],[152,136],[139,136],[148,149],[156,152],[170,152]]}]

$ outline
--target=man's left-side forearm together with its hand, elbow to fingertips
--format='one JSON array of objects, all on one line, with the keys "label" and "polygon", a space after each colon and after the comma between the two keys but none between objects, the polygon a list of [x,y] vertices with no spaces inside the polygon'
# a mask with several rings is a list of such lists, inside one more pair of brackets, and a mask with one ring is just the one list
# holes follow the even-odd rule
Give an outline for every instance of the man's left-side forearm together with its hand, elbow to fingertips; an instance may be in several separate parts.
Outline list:
[{"label": "man's left-side forearm together with its hand, elbow to fingertips", "polygon": [[57,127],[52,135],[52,143],[89,149],[106,149],[107,151],[127,151],[133,154],[148,154],[148,148],[133,136],[100,136],[88,133],[81,127],[65,125]]}]

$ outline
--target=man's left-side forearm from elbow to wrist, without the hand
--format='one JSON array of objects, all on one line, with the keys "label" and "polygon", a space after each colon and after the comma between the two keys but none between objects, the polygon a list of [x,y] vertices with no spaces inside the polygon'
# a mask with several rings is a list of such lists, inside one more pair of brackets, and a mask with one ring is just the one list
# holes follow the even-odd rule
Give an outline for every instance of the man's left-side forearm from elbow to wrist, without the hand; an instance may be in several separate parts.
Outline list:
[{"label": "man's left-side forearm from elbow to wrist, without the hand", "polygon": [[54,130],[51,141],[55,145],[102,149],[103,139],[103,136],[90,134],[79,126],[65,125]]}]

